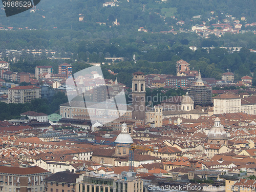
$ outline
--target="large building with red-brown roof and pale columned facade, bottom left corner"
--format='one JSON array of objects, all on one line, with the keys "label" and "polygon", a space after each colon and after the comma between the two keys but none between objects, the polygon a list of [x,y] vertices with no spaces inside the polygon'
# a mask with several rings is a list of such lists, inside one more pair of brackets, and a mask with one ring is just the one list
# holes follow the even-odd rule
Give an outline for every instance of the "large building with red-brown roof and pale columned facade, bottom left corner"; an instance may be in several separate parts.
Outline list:
[{"label": "large building with red-brown roof and pale columned facade, bottom left corner", "polygon": [[0,166],[0,188],[2,191],[42,192],[44,191],[43,180],[50,175],[51,172],[38,166]]}]

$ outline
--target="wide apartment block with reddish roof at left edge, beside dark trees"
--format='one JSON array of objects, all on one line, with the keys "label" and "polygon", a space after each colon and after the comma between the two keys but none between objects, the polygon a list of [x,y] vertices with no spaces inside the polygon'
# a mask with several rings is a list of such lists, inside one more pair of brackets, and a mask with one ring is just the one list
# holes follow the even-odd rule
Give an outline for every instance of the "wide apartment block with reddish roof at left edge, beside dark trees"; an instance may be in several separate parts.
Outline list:
[{"label": "wide apartment block with reddish roof at left edge, beside dark trees", "polygon": [[41,88],[33,85],[8,89],[8,103],[27,103],[41,98]]}]

